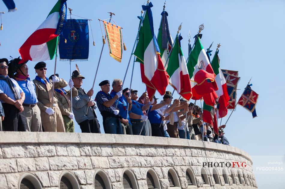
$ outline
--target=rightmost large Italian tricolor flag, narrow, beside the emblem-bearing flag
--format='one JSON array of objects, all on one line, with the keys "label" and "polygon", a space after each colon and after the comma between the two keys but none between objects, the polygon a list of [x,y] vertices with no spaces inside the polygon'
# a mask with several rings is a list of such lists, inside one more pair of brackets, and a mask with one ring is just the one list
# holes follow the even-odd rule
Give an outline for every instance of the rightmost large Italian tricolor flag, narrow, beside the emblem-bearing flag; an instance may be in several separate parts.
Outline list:
[{"label": "rightmost large Italian tricolor flag, narrow, beside the emblem-bearing flag", "polygon": [[220,69],[220,59],[218,56],[219,50],[216,51],[211,66],[216,74],[215,81],[218,86],[218,90],[216,90],[216,94],[219,97],[219,117],[224,117],[228,113],[227,106],[229,105],[229,94],[226,88],[226,79],[223,76],[222,70]]}]

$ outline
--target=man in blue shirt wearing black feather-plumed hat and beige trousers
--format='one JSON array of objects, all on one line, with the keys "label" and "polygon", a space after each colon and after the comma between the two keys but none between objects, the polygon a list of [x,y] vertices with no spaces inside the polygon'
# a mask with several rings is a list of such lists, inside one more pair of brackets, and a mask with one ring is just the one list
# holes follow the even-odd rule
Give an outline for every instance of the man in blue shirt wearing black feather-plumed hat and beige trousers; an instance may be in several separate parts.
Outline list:
[{"label": "man in blue shirt wearing black feather-plumed hat and beige trousers", "polygon": [[[8,75],[16,80],[25,93],[24,115],[26,116],[26,131],[42,132],[41,110],[38,107],[38,99],[35,91],[35,84],[29,77],[27,62],[19,64],[21,59],[16,58],[10,61]],[[16,74],[15,74],[16,73]]]}]

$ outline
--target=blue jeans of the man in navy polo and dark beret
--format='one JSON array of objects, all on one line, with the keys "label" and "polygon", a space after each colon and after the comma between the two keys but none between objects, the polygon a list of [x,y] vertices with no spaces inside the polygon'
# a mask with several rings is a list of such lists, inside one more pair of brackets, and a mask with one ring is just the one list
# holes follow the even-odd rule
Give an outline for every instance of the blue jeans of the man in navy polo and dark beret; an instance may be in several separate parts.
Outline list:
[{"label": "blue jeans of the man in navy polo and dark beret", "polygon": [[116,117],[107,117],[104,120],[104,130],[108,134],[123,134],[122,126],[120,121]]}]

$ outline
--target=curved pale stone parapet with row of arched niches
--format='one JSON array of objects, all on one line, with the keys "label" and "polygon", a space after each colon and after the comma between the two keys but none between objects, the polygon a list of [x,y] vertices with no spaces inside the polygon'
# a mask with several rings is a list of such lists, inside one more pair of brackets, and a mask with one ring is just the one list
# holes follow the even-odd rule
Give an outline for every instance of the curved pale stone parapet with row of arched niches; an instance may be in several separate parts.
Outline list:
[{"label": "curved pale stone parapet with row of arched niches", "polygon": [[257,188],[248,153],[213,142],[0,132],[0,146],[1,189]]}]

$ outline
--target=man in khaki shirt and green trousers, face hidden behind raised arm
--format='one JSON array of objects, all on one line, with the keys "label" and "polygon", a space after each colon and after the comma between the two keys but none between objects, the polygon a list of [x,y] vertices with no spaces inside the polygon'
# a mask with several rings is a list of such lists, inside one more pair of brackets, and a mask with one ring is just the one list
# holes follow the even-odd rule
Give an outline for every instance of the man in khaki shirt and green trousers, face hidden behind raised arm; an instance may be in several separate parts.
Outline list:
[{"label": "man in khaki shirt and green trousers, face hidden behind raised arm", "polygon": [[[55,74],[57,77],[58,74]],[[52,76],[49,76],[49,79],[52,79]],[[73,81],[68,82],[69,87],[72,87],[72,98],[78,95],[78,91],[73,87]],[[61,111],[61,115],[64,121],[65,132],[74,133],[74,114],[71,112],[71,102],[70,102],[70,90],[65,90],[63,88],[55,89],[55,96],[58,99],[58,107]]]}]

